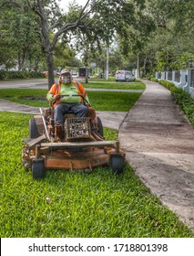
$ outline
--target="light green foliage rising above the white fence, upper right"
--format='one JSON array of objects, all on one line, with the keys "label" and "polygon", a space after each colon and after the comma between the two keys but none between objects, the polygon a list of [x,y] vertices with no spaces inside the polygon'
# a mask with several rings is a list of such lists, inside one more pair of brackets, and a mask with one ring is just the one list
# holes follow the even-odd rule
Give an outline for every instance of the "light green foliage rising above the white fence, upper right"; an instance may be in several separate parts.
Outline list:
[{"label": "light green foliage rising above the white fence, upper right", "polygon": [[194,52],[193,1],[147,0],[147,12],[156,25],[144,46],[148,72],[181,69]]}]

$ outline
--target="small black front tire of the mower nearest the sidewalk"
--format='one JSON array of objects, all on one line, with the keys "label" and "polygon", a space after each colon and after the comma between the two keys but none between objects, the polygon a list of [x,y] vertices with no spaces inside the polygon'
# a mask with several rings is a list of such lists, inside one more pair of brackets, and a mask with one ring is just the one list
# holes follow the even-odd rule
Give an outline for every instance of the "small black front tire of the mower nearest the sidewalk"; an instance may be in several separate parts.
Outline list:
[{"label": "small black front tire of the mower nearest the sidewalk", "polygon": [[110,155],[109,165],[111,166],[113,173],[119,175],[123,173],[125,165],[124,158],[117,153],[113,153]]}]

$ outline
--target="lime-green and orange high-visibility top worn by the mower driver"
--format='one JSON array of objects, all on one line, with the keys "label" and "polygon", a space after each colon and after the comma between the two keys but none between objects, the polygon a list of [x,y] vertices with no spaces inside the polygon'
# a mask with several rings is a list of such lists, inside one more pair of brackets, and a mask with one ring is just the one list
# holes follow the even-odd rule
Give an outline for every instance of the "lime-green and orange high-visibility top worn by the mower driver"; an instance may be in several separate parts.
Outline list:
[{"label": "lime-green and orange high-visibility top worn by the mower driver", "polygon": [[62,98],[59,101],[56,101],[54,103],[54,107],[59,102],[65,102],[65,103],[83,102],[82,97],[73,96],[73,95],[81,95],[89,103],[87,92],[85,91],[83,85],[80,82],[72,81],[70,84],[65,84],[60,82],[58,84],[55,83],[46,95],[47,101],[50,101],[50,102],[54,101],[54,95],[56,94],[65,95],[65,96],[62,96]]}]

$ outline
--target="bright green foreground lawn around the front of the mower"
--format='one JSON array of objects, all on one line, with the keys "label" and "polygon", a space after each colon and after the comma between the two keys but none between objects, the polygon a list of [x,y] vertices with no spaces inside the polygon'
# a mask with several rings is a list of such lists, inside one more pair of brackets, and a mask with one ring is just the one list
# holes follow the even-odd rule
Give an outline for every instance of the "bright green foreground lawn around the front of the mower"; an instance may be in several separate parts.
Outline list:
[{"label": "bright green foreground lawn around the front of the mower", "polygon": [[21,165],[30,117],[0,112],[1,237],[194,237],[129,165],[121,176],[97,167],[90,175],[50,170],[33,180]]}]

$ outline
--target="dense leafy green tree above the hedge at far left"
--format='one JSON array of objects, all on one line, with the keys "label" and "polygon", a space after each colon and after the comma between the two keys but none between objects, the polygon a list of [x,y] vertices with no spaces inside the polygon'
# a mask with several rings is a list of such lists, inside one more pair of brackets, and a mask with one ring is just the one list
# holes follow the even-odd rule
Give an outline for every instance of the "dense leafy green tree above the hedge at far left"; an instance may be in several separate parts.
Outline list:
[{"label": "dense leafy green tree above the hedge at far left", "polygon": [[29,63],[34,61],[37,70],[42,54],[35,33],[33,14],[27,10],[21,13],[20,9],[13,7],[3,7],[1,14],[1,61],[5,68],[13,68],[17,64],[18,70],[22,70],[28,60]]}]

